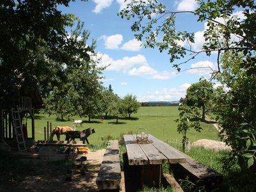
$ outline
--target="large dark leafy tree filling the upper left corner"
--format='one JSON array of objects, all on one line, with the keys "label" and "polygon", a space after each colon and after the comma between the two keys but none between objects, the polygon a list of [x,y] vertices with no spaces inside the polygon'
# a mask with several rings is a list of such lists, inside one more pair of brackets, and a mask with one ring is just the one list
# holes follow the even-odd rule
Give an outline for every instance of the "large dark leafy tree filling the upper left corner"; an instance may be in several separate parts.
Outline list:
[{"label": "large dark leafy tree filling the upper left corner", "polygon": [[[79,19],[57,10],[58,5],[68,3],[70,0],[1,2],[0,96],[12,91],[10,82],[26,82],[31,89],[36,85],[46,95],[67,79],[63,68],[72,70],[84,64],[81,59],[90,60],[95,42],[89,45],[84,39],[70,38],[66,28]],[[83,26],[78,25],[82,31]],[[88,33],[83,33],[88,40]]]}]

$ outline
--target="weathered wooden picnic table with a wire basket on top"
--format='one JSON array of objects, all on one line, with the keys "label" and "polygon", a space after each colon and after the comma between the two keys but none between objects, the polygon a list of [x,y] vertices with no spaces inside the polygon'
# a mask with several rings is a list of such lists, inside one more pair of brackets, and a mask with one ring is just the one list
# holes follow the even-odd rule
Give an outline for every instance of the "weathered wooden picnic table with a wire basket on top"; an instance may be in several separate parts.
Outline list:
[{"label": "weathered wooden picnic table with a wire basket on top", "polygon": [[140,166],[141,186],[159,188],[164,163],[185,163],[186,158],[174,147],[148,136],[148,143],[138,143],[137,135],[124,135],[129,165]]}]

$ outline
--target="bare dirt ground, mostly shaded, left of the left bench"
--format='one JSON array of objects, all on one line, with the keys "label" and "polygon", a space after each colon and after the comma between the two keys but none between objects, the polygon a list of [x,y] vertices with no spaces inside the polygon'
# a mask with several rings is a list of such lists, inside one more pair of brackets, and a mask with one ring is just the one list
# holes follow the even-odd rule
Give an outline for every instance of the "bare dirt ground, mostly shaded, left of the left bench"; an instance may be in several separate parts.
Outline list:
[{"label": "bare dirt ground, mostly shaded, left of the left bench", "polygon": [[[58,153],[58,147],[42,147],[39,156],[33,158],[32,152],[26,152],[22,159],[36,166],[35,172],[20,175],[19,181],[4,181],[0,174],[0,191],[99,191],[96,179],[104,152],[105,149],[88,151],[86,174],[72,173],[72,181],[66,181],[67,166],[58,165],[58,162],[67,161],[65,154]],[[125,191],[124,173],[121,189]]]}]

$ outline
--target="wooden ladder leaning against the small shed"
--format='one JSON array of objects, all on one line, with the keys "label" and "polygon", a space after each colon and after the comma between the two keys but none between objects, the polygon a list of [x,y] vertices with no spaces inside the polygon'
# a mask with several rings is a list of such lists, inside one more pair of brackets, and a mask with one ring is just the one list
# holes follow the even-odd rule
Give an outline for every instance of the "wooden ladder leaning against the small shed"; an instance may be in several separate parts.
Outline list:
[{"label": "wooden ladder leaning against the small shed", "polygon": [[12,110],[12,126],[14,129],[17,146],[19,151],[26,151],[26,142],[22,131],[22,124],[19,110]]}]

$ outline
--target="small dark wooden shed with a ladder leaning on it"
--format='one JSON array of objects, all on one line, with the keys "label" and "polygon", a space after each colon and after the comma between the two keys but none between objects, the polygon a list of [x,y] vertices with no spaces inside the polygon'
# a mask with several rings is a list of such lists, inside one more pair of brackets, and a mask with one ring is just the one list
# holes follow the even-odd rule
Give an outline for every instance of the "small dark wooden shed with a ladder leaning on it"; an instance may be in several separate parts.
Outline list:
[{"label": "small dark wooden shed with a ladder leaning on it", "polygon": [[[8,90],[0,84],[0,90],[0,143],[25,151],[26,144],[35,142],[35,110],[44,108],[42,98],[34,86],[25,84]],[[24,118],[29,118],[31,125]]]}]

